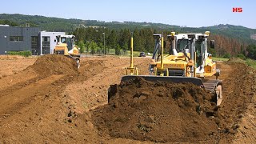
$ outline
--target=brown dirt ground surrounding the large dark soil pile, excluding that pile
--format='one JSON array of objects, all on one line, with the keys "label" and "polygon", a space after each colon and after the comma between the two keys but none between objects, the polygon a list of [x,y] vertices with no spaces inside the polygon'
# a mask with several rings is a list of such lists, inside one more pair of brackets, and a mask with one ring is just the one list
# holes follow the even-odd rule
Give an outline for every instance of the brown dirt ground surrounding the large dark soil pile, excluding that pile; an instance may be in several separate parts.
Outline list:
[{"label": "brown dirt ground surrounding the large dark soil pile, excluding that pile", "polygon": [[[223,125],[220,130],[212,125],[217,131],[213,139],[161,141],[114,136],[95,125],[94,113],[107,106],[107,90],[120,83],[129,58],[82,58],[79,70],[65,65],[69,60],[59,59],[0,60],[0,143],[256,143],[256,73],[244,64],[218,62],[223,80],[218,117]],[[149,62],[149,58],[134,58],[139,74],[148,74]]]}]

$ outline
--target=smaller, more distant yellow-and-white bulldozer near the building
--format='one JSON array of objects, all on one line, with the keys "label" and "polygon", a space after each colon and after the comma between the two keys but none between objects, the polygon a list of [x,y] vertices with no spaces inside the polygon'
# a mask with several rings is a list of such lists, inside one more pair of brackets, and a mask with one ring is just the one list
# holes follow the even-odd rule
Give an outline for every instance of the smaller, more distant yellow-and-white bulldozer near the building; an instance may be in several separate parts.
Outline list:
[{"label": "smaller, more distant yellow-and-white bulldozer near the building", "polygon": [[73,58],[77,67],[80,67],[80,57],[78,47],[74,45],[74,35],[58,35],[57,45],[54,48],[54,54],[63,54],[69,58]]}]

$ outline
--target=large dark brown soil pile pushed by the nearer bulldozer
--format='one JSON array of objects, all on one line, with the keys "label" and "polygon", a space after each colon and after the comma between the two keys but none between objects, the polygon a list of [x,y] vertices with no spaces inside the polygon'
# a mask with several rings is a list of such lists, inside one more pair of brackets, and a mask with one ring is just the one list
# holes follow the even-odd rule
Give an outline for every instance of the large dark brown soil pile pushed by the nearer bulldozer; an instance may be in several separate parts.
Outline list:
[{"label": "large dark brown soil pile pushed by the nearer bulldozer", "polygon": [[154,142],[212,142],[221,122],[214,95],[190,83],[111,86],[110,102],[93,111],[94,124],[117,138]]}]

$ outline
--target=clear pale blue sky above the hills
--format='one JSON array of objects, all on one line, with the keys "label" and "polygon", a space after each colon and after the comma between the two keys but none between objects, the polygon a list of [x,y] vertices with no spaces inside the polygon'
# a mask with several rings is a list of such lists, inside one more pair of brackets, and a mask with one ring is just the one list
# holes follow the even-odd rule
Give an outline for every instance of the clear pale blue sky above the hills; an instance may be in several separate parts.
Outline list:
[{"label": "clear pale blue sky above the hills", "polygon": [[[233,7],[242,7],[242,13],[234,13]],[[3,0],[0,14],[188,27],[231,24],[256,29],[255,0]]]}]

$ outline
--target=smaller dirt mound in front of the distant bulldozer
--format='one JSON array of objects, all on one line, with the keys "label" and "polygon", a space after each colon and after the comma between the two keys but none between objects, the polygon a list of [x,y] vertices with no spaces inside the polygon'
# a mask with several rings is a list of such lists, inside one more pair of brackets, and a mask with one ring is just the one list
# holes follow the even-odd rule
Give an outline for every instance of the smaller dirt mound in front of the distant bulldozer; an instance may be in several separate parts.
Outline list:
[{"label": "smaller dirt mound in front of the distant bulldozer", "polygon": [[38,58],[29,69],[35,70],[38,74],[76,74],[78,69],[73,58],[64,55],[48,54]]}]

